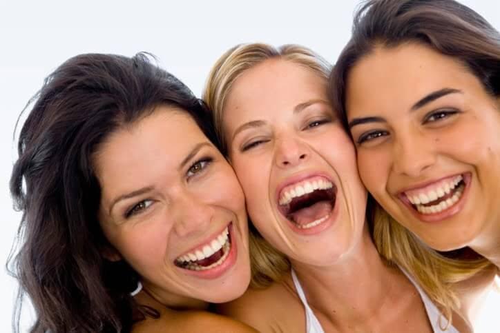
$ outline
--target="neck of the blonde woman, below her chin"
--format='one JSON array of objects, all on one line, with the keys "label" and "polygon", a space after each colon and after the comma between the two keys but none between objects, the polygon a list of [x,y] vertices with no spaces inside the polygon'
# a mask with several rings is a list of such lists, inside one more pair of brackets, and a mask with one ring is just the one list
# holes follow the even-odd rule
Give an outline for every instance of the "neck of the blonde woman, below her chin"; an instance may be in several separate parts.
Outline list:
[{"label": "neck of the blonde woman, below her chin", "polygon": [[384,303],[390,306],[392,296],[403,285],[396,280],[406,280],[399,270],[383,262],[366,225],[351,252],[326,267],[292,261],[309,304],[315,312],[328,316],[332,323],[339,323],[340,319],[355,323],[374,319],[382,312]]}]

